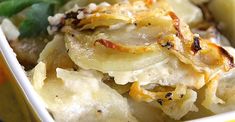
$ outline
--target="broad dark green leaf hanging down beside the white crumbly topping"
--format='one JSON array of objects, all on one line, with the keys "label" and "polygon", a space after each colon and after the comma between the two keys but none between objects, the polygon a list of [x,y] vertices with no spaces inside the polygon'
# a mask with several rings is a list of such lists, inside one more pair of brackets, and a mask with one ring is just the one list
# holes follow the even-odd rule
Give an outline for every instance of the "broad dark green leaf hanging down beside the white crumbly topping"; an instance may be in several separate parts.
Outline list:
[{"label": "broad dark green leaf hanging down beside the white crumbly topping", "polygon": [[34,37],[46,32],[47,17],[53,14],[53,5],[38,3],[29,9],[26,19],[20,24],[21,37]]}]

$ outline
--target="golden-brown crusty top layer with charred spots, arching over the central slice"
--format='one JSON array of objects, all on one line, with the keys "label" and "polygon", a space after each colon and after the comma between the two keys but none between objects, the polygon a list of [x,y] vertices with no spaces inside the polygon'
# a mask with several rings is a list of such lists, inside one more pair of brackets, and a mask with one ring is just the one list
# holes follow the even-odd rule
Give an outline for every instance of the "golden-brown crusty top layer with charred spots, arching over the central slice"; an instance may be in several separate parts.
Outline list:
[{"label": "golden-brown crusty top layer with charred spots, arching over the central slice", "polygon": [[[152,4],[153,1],[145,0],[144,2]],[[161,1],[159,4],[164,5],[163,3]],[[97,28],[102,27],[105,30],[118,23],[124,23],[124,25],[135,25],[136,23],[136,28],[134,29],[158,27],[161,31],[157,30],[159,33],[155,37],[156,44],[133,46],[127,43],[127,45],[124,45],[108,37],[107,39],[94,39],[94,46],[99,43],[116,51],[139,54],[155,51],[154,46],[157,45],[167,49],[158,51],[171,52],[181,62],[192,65],[198,72],[205,72],[208,77],[217,71],[228,71],[234,67],[234,59],[226,50],[193,34],[189,27],[170,8],[155,6],[142,7],[139,10],[136,9],[137,6],[134,6],[135,4],[137,3],[133,1],[133,3],[99,7],[89,16],[80,20],[79,24],[76,25],[77,30],[78,32],[84,30],[92,30],[94,32]],[[69,20],[65,21],[68,21],[68,23],[65,22],[65,25],[73,26],[69,25]],[[112,37],[112,35],[109,36]]]}]

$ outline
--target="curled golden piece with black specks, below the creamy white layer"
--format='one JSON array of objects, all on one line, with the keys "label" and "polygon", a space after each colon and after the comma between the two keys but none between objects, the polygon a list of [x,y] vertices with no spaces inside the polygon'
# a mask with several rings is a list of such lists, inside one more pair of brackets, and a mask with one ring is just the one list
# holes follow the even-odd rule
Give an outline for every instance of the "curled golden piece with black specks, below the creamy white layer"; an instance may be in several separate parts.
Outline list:
[{"label": "curled golden piece with black specks, below the creamy white layer", "polygon": [[135,82],[132,84],[129,94],[137,101],[156,105],[165,114],[176,120],[182,118],[189,111],[198,111],[198,108],[194,105],[197,93],[183,85],[177,86],[174,91],[151,92],[141,88],[140,84]]}]

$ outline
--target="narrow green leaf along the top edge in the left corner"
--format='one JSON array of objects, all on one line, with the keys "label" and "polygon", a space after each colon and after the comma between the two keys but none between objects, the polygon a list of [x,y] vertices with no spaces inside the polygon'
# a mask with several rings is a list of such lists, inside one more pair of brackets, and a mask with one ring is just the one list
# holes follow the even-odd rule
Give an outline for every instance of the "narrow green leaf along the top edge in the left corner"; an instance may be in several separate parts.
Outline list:
[{"label": "narrow green leaf along the top edge in the left corner", "polygon": [[[60,1],[60,0],[59,0]],[[25,8],[39,2],[57,4],[58,0],[0,0],[0,16],[11,17]]]}]

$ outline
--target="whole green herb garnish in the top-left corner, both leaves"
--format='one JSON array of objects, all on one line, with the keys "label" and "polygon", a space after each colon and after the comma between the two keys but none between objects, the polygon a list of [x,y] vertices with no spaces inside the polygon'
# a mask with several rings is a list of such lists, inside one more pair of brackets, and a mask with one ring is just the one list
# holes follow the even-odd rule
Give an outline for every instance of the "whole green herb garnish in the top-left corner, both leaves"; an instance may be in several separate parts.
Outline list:
[{"label": "whole green herb garnish in the top-left corner, both leaves", "polygon": [[0,16],[11,17],[26,10],[26,17],[20,23],[20,37],[34,37],[46,33],[47,17],[66,0],[0,0]]}]

